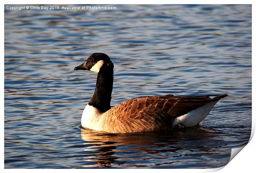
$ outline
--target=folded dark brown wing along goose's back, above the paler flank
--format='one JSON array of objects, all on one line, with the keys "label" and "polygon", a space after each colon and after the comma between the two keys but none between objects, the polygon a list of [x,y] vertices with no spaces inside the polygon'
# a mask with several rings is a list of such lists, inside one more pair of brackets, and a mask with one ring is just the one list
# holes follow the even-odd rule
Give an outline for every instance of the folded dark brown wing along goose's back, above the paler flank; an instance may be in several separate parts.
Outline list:
[{"label": "folded dark brown wing along goose's back, above the paler flank", "polygon": [[209,102],[211,98],[208,96],[189,96],[189,97],[168,97],[168,96],[151,96],[138,97],[123,102],[114,109],[116,116],[120,120],[127,118],[141,119],[141,113],[160,112],[175,118],[186,114],[189,111],[197,109]]}]

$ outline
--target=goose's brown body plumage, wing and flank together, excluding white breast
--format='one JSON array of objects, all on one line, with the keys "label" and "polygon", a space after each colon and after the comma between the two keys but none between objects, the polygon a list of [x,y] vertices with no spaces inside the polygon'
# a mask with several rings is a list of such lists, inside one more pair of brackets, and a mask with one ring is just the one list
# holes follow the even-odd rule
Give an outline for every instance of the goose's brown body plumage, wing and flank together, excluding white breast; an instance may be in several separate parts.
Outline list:
[{"label": "goose's brown body plumage, wing and flank together, excluding white breast", "polygon": [[208,96],[138,97],[110,109],[109,115],[112,115],[111,119],[115,117],[115,120],[112,119],[117,123],[115,128],[119,128],[122,133],[133,133],[142,129],[143,131],[163,130],[170,128],[173,118],[197,109],[212,100]]}]

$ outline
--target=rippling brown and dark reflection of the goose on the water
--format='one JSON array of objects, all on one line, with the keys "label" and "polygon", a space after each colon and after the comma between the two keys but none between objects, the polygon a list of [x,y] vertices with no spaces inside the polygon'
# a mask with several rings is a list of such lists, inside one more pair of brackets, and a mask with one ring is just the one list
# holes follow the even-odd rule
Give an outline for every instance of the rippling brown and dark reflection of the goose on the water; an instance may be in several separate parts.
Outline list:
[{"label": "rippling brown and dark reflection of the goose on the water", "polygon": [[[168,132],[133,134],[97,133],[81,128],[84,151],[87,153],[83,158],[83,167],[136,168],[168,164],[170,168],[177,168],[175,166],[180,164],[185,168],[184,164],[192,163],[192,157],[205,156],[207,159],[209,155],[219,154],[219,149],[226,143],[216,139],[215,133],[219,132],[201,126]],[[143,165],[139,164],[142,162]],[[225,161],[223,163],[225,164]]]}]

